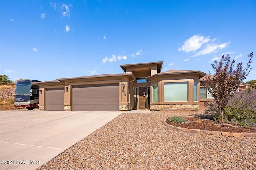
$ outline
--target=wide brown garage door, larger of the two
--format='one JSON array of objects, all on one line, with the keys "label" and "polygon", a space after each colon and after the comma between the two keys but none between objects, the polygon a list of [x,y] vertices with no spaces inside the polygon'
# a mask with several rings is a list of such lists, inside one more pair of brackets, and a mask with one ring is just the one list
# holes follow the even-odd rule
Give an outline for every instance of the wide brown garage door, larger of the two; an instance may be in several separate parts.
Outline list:
[{"label": "wide brown garage door, larger of the two", "polygon": [[119,84],[73,86],[73,111],[119,111]]}]

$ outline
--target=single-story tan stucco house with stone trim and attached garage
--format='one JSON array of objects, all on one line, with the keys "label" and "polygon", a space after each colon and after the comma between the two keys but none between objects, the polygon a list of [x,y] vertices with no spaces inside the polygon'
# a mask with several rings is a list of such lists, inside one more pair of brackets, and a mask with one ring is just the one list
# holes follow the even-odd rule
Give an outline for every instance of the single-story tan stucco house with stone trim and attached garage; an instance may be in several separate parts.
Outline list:
[{"label": "single-story tan stucco house with stone trim and attached garage", "polygon": [[[59,78],[39,85],[40,110],[129,111],[199,110],[207,99],[200,78],[191,70],[161,72],[163,61],[120,65],[124,73]],[[201,94],[202,93],[202,94]],[[203,94],[204,93],[204,94]],[[205,98],[206,97],[206,98]]]}]

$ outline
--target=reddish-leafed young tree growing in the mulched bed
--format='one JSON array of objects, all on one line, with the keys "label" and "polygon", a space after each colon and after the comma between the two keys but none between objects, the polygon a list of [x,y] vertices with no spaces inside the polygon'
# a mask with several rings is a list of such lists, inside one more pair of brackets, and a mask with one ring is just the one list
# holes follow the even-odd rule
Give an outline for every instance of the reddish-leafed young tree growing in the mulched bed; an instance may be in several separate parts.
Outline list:
[{"label": "reddish-leafed young tree growing in the mulched bed", "polygon": [[214,69],[214,75],[208,74],[206,76],[206,88],[212,94],[216,106],[221,114],[221,122],[223,123],[223,111],[228,104],[230,98],[234,95],[239,88],[239,84],[244,80],[249,72],[252,70],[250,65],[252,63],[253,53],[248,55],[249,61],[246,67],[243,69],[242,63],[238,63],[235,66],[235,60],[230,61],[230,56],[223,55],[220,62],[217,61],[212,64]]}]

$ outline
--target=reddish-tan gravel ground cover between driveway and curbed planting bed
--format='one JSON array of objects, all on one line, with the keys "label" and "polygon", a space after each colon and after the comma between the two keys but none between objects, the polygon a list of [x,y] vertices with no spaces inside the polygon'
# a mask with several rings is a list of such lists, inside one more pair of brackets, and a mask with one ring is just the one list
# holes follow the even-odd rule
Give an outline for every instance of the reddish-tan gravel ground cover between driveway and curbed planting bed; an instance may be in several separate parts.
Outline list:
[{"label": "reddish-tan gravel ground cover between driveway and curbed planting bed", "polygon": [[39,170],[256,170],[256,137],[186,133],[162,121],[190,113],[122,114]]}]

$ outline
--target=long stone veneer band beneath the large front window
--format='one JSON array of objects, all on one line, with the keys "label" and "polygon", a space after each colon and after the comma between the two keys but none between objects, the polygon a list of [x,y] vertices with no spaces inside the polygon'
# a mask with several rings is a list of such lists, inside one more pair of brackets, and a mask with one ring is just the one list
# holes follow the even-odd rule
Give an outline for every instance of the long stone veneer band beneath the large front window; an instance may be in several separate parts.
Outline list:
[{"label": "long stone veneer band beneath the large front window", "polygon": [[199,110],[199,104],[151,104],[150,110]]}]

